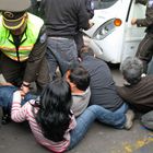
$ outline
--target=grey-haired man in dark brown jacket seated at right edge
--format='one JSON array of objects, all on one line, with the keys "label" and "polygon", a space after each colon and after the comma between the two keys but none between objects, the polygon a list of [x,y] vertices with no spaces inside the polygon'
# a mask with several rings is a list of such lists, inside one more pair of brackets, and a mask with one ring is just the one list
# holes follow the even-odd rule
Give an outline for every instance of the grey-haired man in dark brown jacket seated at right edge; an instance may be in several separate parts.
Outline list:
[{"label": "grey-haired man in dark brown jacket seated at right edge", "polygon": [[128,57],[121,64],[121,73],[128,84],[118,86],[119,95],[139,111],[152,110],[153,75],[142,76],[142,61],[136,57]]}]

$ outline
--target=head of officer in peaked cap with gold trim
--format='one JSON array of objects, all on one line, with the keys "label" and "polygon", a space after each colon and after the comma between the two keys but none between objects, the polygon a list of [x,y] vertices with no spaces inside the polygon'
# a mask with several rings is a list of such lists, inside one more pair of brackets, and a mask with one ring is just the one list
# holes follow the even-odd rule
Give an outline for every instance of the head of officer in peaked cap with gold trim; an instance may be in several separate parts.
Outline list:
[{"label": "head of officer in peaked cap with gold trim", "polygon": [[31,7],[31,0],[0,0],[0,3],[3,26],[13,35],[21,35],[26,28],[26,11]]}]

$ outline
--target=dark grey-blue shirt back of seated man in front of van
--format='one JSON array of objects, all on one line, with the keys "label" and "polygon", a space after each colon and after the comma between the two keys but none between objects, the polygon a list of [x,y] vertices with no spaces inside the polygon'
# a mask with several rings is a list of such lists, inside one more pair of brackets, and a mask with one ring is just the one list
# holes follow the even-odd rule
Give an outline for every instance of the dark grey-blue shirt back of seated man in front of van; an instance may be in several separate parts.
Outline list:
[{"label": "dark grey-blue shirt back of seated man in front of van", "polygon": [[102,59],[93,56],[85,56],[82,64],[91,75],[91,102],[90,104],[101,105],[106,109],[116,110],[122,105],[118,96],[110,69]]}]

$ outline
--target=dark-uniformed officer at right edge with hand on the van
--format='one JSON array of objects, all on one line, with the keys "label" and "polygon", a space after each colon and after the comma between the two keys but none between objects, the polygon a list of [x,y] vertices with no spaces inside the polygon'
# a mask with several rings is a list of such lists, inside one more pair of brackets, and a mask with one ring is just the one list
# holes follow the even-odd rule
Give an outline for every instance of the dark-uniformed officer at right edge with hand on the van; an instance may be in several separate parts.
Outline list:
[{"label": "dark-uniformed officer at right edge with hand on the van", "polygon": [[136,2],[146,4],[145,19],[132,19],[131,21],[132,25],[146,27],[146,35],[140,43],[136,55],[143,61],[143,72],[146,73],[148,63],[151,61],[153,56],[153,0],[137,0]]}]

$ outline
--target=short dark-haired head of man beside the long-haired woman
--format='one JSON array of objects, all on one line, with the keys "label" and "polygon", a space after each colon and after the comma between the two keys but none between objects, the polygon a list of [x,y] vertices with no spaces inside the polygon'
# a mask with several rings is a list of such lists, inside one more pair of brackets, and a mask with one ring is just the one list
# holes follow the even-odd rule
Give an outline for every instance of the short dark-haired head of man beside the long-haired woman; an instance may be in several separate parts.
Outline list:
[{"label": "short dark-haired head of man beside the long-haired woman", "polygon": [[90,74],[81,64],[73,64],[66,72],[66,80],[69,82],[72,92],[76,90],[86,91],[90,85]]}]

